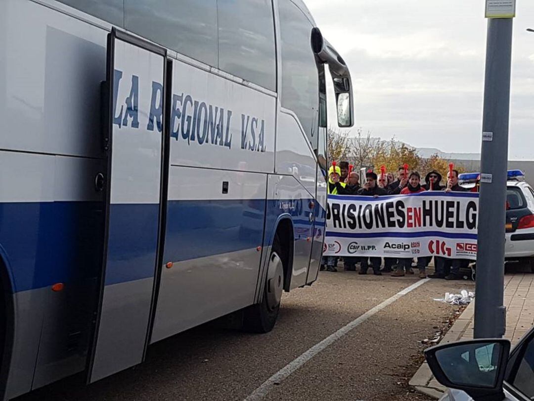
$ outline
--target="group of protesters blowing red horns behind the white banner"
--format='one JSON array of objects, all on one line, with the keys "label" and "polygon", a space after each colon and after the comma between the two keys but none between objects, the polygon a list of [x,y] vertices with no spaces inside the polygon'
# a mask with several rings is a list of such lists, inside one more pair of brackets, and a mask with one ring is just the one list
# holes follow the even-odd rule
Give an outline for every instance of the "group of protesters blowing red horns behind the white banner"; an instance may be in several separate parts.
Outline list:
[{"label": "group of protesters blowing red horns behind the white banner", "polygon": [[[385,173],[382,170],[380,175],[374,171],[367,171],[363,185],[359,183],[359,173],[351,172],[349,163],[341,161],[338,165],[333,164],[328,170],[328,194],[332,195],[359,195],[379,197],[384,195],[409,195],[422,191],[467,191],[458,184],[458,171],[452,169],[447,173],[445,186],[441,185],[442,175],[433,170],[425,176],[425,182],[421,184],[421,175],[417,171],[407,172],[406,166],[399,166],[397,178],[393,173]],[[336,272],[337,257],[327,256],[321,260],[321,270]],[[419,277],[427,277],[426,268],[430,264],[432,257],[418,257],[417,268]],[[393,277],[402,277],[405,274],[414,274],[412,270],[412,258],[382,258],[380,257],[354,257],[344,256],[344,269],[356,271],[356,264],[359,263],[359,274],[367,274],[369,267],[373,269],[373,274],[391,273]],[[435,257],[435,273],[428,275],[430,278],[459,280],[462,279],[460,268],[467,268],[469,260],[447,259]]]}]

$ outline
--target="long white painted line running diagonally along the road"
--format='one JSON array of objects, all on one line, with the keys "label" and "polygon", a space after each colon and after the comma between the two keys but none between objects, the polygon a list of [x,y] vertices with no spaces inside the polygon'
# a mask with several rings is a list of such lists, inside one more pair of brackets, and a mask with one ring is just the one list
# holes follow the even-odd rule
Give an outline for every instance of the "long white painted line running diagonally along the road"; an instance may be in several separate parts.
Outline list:
[{"label": "long white painted line running diagonally along the road", "polygon": [[250,394],[247,398],[245,398],[245,401],[255,401],[255,400],[262,399],[268,394],[269,391],[271,391],[271,389],[275,385],[278,385],[282,381],[287,379],[287,377],[290,374],[292,374],[297,369],[302,367],[302,365],[307,363],[311,358],[315,357],[319,352],[327,348],[327,346],[335,343],[337,340],[339,340],[341,337],[347,334],[350,330],[358,327],[363,322],[365,322],[367,319],[369,319],[372,315],[380,312],[386,306],[394,303],[397,299],[399,299],[403,295],[406,295],[410,291],[418,288],[419,286],[422,286],[422,284],[425,284],[429,280],[430,279],[423,279],[423,280],[419,280],[416,283],[413,283],[410,287],[406,287],[404,290],[397,292],[397,294],[395,294],[391,298],[384,300],[384,302],[371,308],[370,310],[368,310],[367,312],[365,312],[363,315],[359,316],[355,320],[352,320],[350,323],[348,323],[348,325],[343,326],[342,328],[337,330],[335,333],[326,337],[323,341],[313,345],[312,348],[304,352],[300,357],[297,357],[296,359],[291,361],[289,364],[281,368],[277,373],[269,377],[269,379],[265,380],[263,384],[260,385],[260,387],[258,387],[256,390],[252,392],[252,394]]}]

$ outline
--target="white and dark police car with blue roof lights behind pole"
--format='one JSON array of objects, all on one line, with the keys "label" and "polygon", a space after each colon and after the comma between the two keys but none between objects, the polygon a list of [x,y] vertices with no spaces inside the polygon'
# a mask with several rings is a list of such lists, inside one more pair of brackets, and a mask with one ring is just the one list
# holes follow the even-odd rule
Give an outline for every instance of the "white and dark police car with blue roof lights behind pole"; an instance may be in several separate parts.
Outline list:
[{"label": "white and dark police car with blue roof lights behind pole", "polygon": [[[479,173],[458,176],[462,187],[475,190]],[[506,260],[527,260],[534,269],[534,190],[521,170],[509,170],[506,183]]]}]

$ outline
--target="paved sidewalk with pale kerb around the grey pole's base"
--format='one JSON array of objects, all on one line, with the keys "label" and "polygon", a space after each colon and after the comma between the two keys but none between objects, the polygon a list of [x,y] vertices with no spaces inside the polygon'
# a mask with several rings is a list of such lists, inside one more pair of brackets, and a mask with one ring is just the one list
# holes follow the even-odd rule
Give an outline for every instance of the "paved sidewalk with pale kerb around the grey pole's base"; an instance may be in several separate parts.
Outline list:
[{"label": "paved sidewalk with pale kerb around the grey pole's base", "polygon": [[[504,277],[504,305],[506,306],[505,337],[517,343],[534,325],[534,274],[513,273]],[[440,344],[473,338],[475,302],[472,302],[461,314]],[[444,387],[434,379],[427,363],[423,363],[409,383],[417,391],[430,397],[439,398]]]}]

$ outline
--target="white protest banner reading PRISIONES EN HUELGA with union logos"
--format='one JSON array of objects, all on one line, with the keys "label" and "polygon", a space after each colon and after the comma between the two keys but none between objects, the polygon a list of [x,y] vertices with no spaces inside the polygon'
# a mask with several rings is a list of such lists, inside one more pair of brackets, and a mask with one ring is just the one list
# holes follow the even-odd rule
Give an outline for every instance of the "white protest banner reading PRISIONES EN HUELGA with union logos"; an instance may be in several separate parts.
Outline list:
[{"label": "white protest banner reading PRISIONES EN HUELGA with union logos", "polygon": [[473,192],[328,195],[323,255],[476,259],[477,212]]}]

